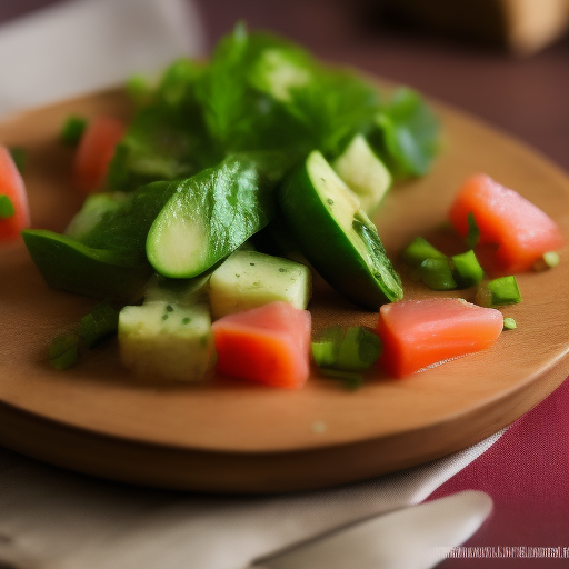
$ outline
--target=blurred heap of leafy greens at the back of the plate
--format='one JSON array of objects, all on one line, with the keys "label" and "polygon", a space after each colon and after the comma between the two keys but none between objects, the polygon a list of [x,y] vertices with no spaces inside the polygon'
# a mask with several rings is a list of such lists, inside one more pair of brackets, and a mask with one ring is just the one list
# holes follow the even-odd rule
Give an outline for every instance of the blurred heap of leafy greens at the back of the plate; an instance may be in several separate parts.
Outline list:
[{"label": "blurred heap of leafy greens at the back of the plate", "polygon": [[375,133],[398,176],[425,173],[436,151],[437,121],[413,91],[381,104],[355,73],[243,24],[221,39],[209,64],[179,60],[144,97],[150,102],[111,162],[112,190],[189,178],[234,152],[335,157],[358,132]]}]

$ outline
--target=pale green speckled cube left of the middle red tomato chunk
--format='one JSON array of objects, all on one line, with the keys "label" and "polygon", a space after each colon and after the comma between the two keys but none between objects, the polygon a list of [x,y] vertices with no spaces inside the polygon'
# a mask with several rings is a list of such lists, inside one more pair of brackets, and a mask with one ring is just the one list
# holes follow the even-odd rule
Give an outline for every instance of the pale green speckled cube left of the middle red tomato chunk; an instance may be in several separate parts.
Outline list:
[{"label": "pale green speckled cube left of the middle red tomato chunk", "polygon": [[138,376],[177,381],[202,381],[214,363],[209,307],[203,298],[207,279],[170,283],[156,280],[141,307],[119,315],[122,363]]}]

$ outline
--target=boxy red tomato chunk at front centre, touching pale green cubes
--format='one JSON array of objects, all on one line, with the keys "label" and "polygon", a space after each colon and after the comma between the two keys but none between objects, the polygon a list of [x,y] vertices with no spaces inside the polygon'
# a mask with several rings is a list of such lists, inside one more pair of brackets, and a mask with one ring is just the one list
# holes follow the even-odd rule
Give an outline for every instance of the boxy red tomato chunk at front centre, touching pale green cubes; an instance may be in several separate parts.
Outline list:
[{"label": "boxy red tomato chunk at front centre, touching pale green cubes", "polygon": [[288,302],[271,302],[220,318],[212,325],[217,370],[299,389],[309,375],[310,323],[310,312]]}]

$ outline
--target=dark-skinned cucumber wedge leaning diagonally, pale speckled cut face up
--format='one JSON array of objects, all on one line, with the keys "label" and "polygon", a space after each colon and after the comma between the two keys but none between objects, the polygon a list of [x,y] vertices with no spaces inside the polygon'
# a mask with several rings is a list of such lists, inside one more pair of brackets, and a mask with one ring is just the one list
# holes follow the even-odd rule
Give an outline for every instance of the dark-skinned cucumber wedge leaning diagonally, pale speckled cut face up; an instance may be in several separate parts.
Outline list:
[{"label": "dark-skinned cucumber wedge leaning diagonally, pale speckled cut face up", "polygon": [[302,253],[338,292],[373,310],[402,298],[376,226],[319,151],[287,178],[280,206]]}]

